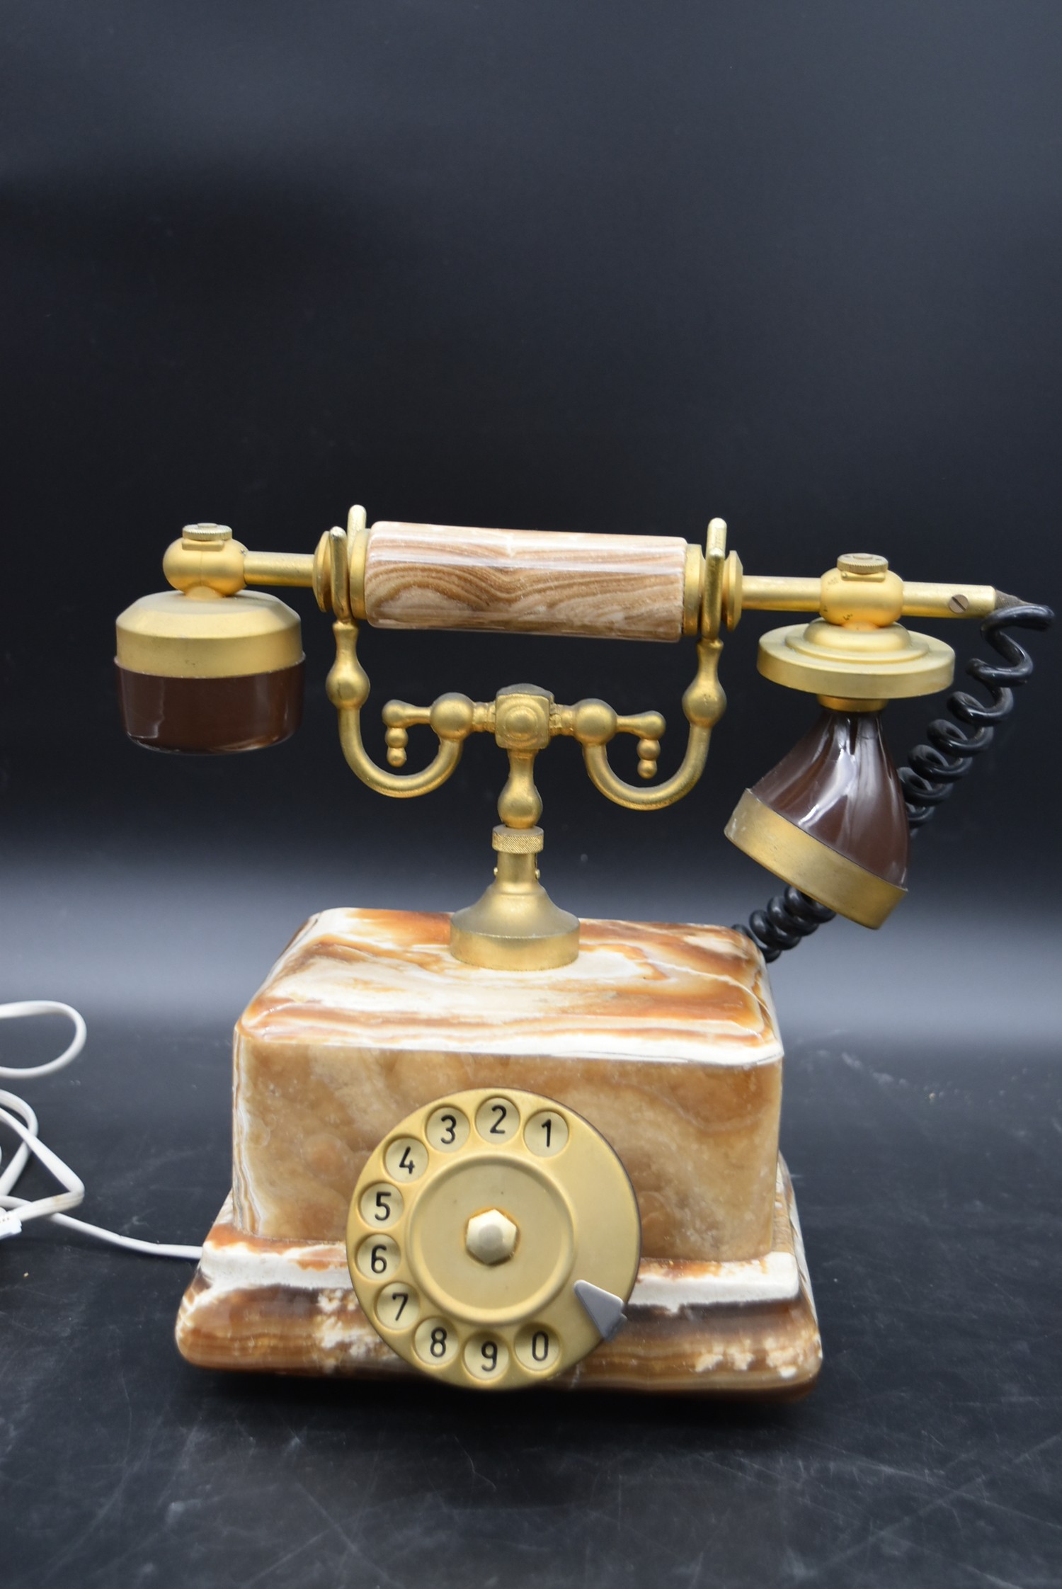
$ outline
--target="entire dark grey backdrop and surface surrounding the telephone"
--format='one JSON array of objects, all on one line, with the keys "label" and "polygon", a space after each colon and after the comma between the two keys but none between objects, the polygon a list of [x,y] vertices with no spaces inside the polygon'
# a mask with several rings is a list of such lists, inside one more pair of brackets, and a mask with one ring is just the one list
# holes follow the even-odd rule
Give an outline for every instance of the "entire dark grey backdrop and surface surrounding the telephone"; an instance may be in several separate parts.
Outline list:
[{"label": "entire dark grey backdrop and surface surrounding the telephone", "polygon": [[[321,906],[467,903],[502,779],[480,740],[424,801],[356,783],[302,593],[293,742],[126,744],[113,618],[180,524],[310,550],[351,501],[687,539],[720,513],[755,572],[876,550],[1057,601],[1060,68],[1052,3],[3,8],[0,993],[92,1022],[27,1088],[89,1217],[199,1239],[269,961]],[[722,837],[809,717],[755,674],[771,621],[727,647],[682,806],[618,812],[572,745],[542,758],[558,903],[731,922],[773,891]],[[0,1247],[16,1581],[1057,1581],[1057,640],[1032,648],[901,910],[776,969],[812,1401],[213,1379],[172,1357],[180,1266],[37,1233]],[[688,647],[362,650],[375,702],[533,677],[663,709],[677,758]],[[890,709],[898,760],[933,710]]]}]

